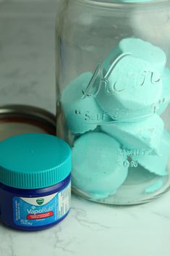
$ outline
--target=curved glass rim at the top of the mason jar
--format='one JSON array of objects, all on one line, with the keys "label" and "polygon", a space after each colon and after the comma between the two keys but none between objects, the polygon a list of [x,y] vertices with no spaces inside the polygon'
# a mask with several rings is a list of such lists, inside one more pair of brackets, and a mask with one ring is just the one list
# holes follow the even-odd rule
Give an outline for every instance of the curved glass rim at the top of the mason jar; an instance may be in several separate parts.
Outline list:
[{"label": "curved glass rim at the top of the mason jar", "polygon": [[143,2],[118,2],[116,0],[108,0],[107,2],[104,0],[75,0],[80,1],[82,4],[88,4],[92,6],[104,7],[104,8],[113,8],[113,9],[131,9],[132,7],[152,7],[162,5],[162,4],[170,4],[170,0],[157,0],[157,1],[143,1]]}]

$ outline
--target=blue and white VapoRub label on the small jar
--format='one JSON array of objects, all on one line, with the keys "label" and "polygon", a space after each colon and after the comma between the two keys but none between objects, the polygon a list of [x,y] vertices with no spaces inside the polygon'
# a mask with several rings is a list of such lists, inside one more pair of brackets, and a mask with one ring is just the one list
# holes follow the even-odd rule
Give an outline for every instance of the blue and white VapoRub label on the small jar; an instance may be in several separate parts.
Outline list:
[{"label": "blue and white VapoRub label on the small jar", "polygon": [[14,223],[17,226],[44,226],[67,215],[70,207],[71,184],[46,197],[14,197]]}]

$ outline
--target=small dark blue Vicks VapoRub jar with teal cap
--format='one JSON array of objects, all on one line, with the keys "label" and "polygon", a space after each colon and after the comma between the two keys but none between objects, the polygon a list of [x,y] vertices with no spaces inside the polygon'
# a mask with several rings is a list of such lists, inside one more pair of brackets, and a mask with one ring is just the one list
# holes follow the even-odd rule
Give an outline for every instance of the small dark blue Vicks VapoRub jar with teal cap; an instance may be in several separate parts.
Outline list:
[{"label": "small dark blue Vicks VapoRub jar with teal cap", "polygon": [[63,220],[70,207],[71,152],[47,134],[12,136],[0,143],[0,219],[36,231]]}]

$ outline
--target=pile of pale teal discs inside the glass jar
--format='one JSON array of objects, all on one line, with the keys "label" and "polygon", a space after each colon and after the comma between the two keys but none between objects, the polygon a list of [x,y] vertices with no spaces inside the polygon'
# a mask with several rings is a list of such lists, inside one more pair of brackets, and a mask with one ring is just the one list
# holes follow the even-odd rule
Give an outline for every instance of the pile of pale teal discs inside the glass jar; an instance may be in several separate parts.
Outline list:
[{"label": "pile of pale teal discs inside the glass jar", "polygon": [[129,168],[166,176],[170,136],[161,114],[169,102],[166,54],[139,38],[122,39],[103,59],[99,78],[82,73],[69,83],[61,106],[69,131],[78,135],[73,186],[102,199],[116,194]]}]

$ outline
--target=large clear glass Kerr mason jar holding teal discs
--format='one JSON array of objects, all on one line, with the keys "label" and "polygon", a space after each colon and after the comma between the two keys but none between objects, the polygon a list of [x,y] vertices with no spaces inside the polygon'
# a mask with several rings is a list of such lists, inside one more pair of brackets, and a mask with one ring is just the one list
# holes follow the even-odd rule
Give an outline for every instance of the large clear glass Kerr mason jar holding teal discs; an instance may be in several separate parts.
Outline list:
[{"label": "large clear glass Kerr mason jar holding teal discs", "polygon": [[57,135],[86,199],[135,205],[169,190],[169,17],[170,1],[61,1]]}]

